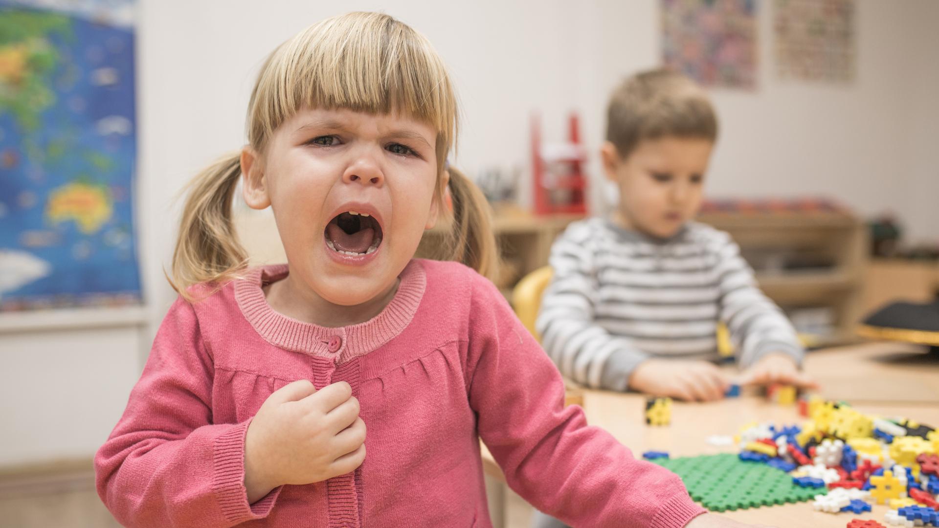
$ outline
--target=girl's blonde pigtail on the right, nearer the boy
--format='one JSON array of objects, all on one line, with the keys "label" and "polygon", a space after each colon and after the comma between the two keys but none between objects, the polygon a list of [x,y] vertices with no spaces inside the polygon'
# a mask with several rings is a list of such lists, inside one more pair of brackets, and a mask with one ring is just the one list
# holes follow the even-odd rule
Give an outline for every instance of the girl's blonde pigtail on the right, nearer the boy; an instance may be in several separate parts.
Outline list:
[{"label": "girl's blonde pigtail on the right, nearer the boy", "polygon": [[462,262],[490,280],[499,272],[499,252],[492,234],[489,203],[462,172],[447,167],[453,222],[446,258]]}]

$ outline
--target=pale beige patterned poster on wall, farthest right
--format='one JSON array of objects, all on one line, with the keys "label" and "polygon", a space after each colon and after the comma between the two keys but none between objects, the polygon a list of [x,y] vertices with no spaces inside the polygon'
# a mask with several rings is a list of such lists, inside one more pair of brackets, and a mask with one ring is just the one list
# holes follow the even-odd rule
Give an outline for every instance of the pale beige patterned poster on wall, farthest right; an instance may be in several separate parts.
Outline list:
[{"label": "pale beige patterned poster on wall, farthest right", "polygon": [[777,0],[773,28],[779,77],[854,80],[854,0]]}]

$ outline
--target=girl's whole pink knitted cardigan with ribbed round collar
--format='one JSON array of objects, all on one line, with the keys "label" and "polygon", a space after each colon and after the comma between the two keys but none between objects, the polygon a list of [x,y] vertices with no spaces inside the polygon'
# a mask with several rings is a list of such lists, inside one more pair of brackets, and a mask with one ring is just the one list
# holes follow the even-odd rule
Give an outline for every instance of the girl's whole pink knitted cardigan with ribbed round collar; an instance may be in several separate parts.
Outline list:
[{"label": "girl's whole pink knitted cardigan with ribbed round collar", "polygon": [[[414,260],[387,307],[324,328],[270,308],[251,270],[163,319],[123,417],[96,458],[98,492],[129,526],[491,526],[479,438],[531,505],[575,526],[684,526],[681,480],[633,458],[577,406],[485,278]],[[197,288],[198,289],[198,288]],[[346,380],[368,455],[355,472],[249,505],[244,437],[294,380]],[[638,421],[638,418],[637,418]]]}]

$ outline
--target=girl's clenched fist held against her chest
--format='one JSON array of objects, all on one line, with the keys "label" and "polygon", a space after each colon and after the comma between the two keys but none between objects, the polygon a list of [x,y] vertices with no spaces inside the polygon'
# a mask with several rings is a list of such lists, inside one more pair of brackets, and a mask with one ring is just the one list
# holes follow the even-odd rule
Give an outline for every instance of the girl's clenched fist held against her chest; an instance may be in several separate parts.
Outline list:
[{"label": "girl's clenched fist held against her chest", "polygon": [[248,504],[283,484],[311,484],[349,473],[365,459],[365,423],[346,381],[316,391],[299,380],[275,391],[254,415],[244,441]]}]

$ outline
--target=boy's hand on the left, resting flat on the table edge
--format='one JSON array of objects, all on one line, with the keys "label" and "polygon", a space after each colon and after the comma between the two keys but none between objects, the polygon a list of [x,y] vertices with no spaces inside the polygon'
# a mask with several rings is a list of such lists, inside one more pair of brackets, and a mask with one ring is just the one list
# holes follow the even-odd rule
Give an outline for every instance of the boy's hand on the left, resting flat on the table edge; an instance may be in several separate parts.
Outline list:
[{"label": "boy's hand on the left, resting flat on the table edge", "polygon": [[724,397],[729,381],[716,365],[706,361],[650,359],[629,377],[635,391],[687,401],[714,401]]}]

